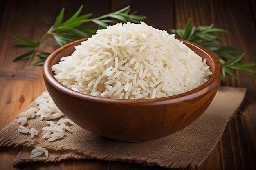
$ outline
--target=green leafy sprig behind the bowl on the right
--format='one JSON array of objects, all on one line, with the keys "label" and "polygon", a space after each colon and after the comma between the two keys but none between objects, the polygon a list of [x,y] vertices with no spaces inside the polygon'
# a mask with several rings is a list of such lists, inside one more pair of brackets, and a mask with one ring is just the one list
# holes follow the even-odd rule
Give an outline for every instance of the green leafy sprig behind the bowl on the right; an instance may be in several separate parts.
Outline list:
[{"label": "green leafy sprig behind the bowl on the right", "polygon": [[222,65],[222,80],[225,81],[227,75],[231,75],[238,79],[235,70],[245,73],[250,77],[256,79],[253,74],[256,70],[252,67],[256,65],[253,62],[241,62],[244,53],[236,50],[235,46],[221,46],[220,42],[222,37],[218,33],[228,33],[228,31],[210,26],[193,26],[192,19],[190,18],[186,24],[185,29],[171,29],[171,33],[175,34],[176,38],[182,38],[194,42],[200,46],[211,51],[220,61]]}]

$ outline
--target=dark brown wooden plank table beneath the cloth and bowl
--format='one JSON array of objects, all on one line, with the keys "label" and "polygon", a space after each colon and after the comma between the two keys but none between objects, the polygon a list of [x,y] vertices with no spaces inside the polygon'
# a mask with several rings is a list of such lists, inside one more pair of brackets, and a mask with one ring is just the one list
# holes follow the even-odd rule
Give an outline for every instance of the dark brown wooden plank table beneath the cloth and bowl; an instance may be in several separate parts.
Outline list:
[{"label": "dark brown wooden plank table beneath the cloth and bowl", "polygon": [[[88,1],[88,2],[87,2]],[[246,55],[243,62],[256,62],[256,2],[254,0],[3,0],[0,2],[0,129],[46,90],[41,66],[27,66],[28,60],[13,62],[25,52],[13,47],[17,41],[10,33],[39,40],[52,26],[62,7],[69,18],[81,4],[82,14],[93,13],[95,17],[131,5],[132,11],[146,15],[147,24],[157,28],[184,29],[192,18],[195,26],[226,29],[224,45],[234,45]],[[64,18],[64,19],[65,19]],[[94,26],[88,24],[88,26]],[[47,37],[40,49],[52,52],[56,46]],[[35,61],[38,61],[36,59]],[[34,62],[35,62],[34,61]],[[227,78],[223,86],[245,87],[245,102],[228,123],[220,142],[198,169],[207,170],[255,170],[256,169],[256,81],[236,72],[239,80]],[[141,166],[134,163],[99,161],[63,161],[60,163],[34,163],[20,167],[11,165],[18,148],[0,148],[0,169],[37,170],[160,170],[163,168]],[[35,168],[37,167],[37,168]]]}]

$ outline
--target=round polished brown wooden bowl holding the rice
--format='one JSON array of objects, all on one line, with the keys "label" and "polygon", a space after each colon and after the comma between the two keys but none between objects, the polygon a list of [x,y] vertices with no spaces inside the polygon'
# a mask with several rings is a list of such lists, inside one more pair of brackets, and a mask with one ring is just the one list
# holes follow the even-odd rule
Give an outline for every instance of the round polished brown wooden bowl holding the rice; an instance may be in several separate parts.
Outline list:
[{"label": "round polished brown wooden bowl holding the rice", "polygon": [[43,65],[47,90],[56,106],[76,124],[97,135],[120,141],[147,141],[171,135],[198,119],[211,104],[222,77],[219,60],[207,49],[182,40],[213,72],[207,82],[186,93],[157,99],[110,99],[85,95],[58,82],[51,71],[61,57],[70,56],[71,42],[54,51]]}]

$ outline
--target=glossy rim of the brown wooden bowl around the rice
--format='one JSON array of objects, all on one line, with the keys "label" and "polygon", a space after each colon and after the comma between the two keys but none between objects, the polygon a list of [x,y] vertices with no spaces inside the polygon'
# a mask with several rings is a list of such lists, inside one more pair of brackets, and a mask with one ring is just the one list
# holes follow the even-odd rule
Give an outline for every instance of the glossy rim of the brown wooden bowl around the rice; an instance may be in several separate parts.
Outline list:
[{"label": "glossy rim of the brown wooden bowl around the rice", "polygon": [[[74,90],[64,86],[63,84],[61,84],[61,82],[58,82],[58,80],[54,77],[54,74],[52,73],[51,64],[52,64],[54,57],[56,55],[58,55],[58,53],[61,53],[61,51],[63,51],[67,47],[73,46],[74,44],[78,44],[79,42],[81,44],[81,42],[83,42],[87,39],[88,38],[82,38],[82,39],[70,42],[64,46],[61,46],[60,48],[56,49],[53,53],[51,53],[47,57],[47,59],[45,60],[45,62],[43,64],[43,69],[42,69],[43,78],[44,78],[45,82],[47,82],[51,86],[54,86],[57,91],[61,91],[62,93],[65,93],[66,95],[69,95],[71,97],[75,97],[78,99],[83,99],[83,100],[87,100],[87,101],[91,101],[91,102],[96,102],[96,101],[101,102],[101,103],[113,102],[113,103],[120,103],[120,104],[130,103],[130,104],[136,104],[136,105],[150,104],[152,102],[154,102],[154,103],[160,102],[161,104],[164,104],[164,102],[170,103],[170,102],[177,102],[177,101],[182,101],[182,100],[186,100],[186,99],[191,99],[191,98],[195,97],[195,95],[197,95],[197,93],[200,93],[200,91],[210,91],[211,88],[209,88],[209,86],[214,87],[214,86],[220,85],[221,78],[222,78],[222,67],[221,67],[221,64],[220,64],[219,60],[217,59],[217,57],[215,55],[213,55],[213,53],[211,53],[209,50],[205,49],[204,47],[202,47],[198,44],[177,38],[178,40],[183,41],[186,44],[189,44],[191,46],[194,46],[195,48],[198,48],[200,51],[202,51],[203,53],[208,55],[209,58],[211,59],[211,62],[213,62],[213,64],[214,64],[214,71],[212,71],[212,75],[209,77],[207,82],[198,86],[197,88],[194,88],[194,89],[184,92],[184,93],[180,93],[178,95],[160,97],[160,98],[154,98],[154,99],[112,99],[112,98],[106,98],[106,97],[97,97],[97,96],[87,95],[87,94],[84,94],[81,92],[74,91]],[[63,56],[63,57],[65,57],[65,56]]]}]

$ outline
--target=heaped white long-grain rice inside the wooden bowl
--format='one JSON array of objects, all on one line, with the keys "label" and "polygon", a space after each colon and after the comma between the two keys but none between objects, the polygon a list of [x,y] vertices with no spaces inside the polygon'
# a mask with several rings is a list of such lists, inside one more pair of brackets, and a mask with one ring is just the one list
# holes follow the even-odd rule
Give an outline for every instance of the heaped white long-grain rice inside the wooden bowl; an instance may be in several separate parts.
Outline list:
[{"label": "heaped white long-grain rice inside the wooden bowl", "polygon": [[177,95],[202,85],[211,71],[206,61],[175,35],[141,24],[98,30],[52,66],[54,77],[81,93],[114,99]]}]

